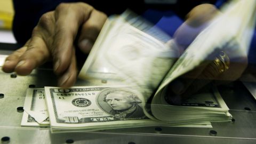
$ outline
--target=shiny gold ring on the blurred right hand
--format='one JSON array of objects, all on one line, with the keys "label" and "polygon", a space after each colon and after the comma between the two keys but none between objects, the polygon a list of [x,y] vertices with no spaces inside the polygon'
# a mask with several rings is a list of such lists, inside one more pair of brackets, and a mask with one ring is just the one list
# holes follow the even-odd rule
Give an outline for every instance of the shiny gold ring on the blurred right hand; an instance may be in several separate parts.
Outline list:
[{"label": "shiny gold ring on the blurred right hand", "polygon": [[230,60],[225,52],[220,51],[219,55],[214,59],[213,63],[215,66],[217,66],[219,73],[223,73],[229,69]]}]

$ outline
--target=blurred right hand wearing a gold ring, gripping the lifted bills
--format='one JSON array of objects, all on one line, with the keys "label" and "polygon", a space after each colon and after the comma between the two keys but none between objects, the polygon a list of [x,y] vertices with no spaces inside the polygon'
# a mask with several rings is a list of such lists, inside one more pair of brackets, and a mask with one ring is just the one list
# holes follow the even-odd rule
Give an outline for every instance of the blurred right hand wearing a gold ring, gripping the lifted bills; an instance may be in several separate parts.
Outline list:
[{"label": "blurred right hand wearing a gold ring, gripping the lifted bills", "polygon": [[[188,14],[188,19],[174,34],[175,42],[182,53],[209,25],[211,20],[221,14],[213,5],[202,4]],[[221,31],[220,31],[221,32]],[[223,39],[225,41],[225,39]],[[214,51],[209,58],[188,73],[181,75],[169,85],[170,103],[179,104],[182,99],[202,89],[206,84],[226,83],[239,78],[247,67],[247,54],[236,39],[227,42],[223,51]]]}]

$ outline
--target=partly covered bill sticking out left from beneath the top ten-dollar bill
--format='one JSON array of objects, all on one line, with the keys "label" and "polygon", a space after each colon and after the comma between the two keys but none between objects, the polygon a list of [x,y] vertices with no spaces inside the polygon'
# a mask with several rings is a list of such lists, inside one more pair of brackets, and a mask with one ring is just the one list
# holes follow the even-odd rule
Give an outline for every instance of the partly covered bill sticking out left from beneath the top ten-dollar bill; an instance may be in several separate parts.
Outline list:
[{"label": "partly covered bill sticking out left from beneath the top ten-dollar bill", "polygon": [[27,89],[21,126],[50,125],[44,89]]}]

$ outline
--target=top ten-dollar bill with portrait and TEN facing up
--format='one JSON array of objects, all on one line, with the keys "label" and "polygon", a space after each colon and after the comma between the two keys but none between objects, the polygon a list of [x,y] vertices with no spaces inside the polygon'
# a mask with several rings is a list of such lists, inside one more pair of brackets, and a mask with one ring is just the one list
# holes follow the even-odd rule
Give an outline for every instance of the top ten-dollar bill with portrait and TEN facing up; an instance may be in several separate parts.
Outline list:
[{"label": "top ten-dollar bill with portrait and TEN facing up", "polygon": [[145,111],[145,97],[124,86],[45,87],[51,128],[105,130],[141,126],[211,127],[210,122],[155,121]]}]

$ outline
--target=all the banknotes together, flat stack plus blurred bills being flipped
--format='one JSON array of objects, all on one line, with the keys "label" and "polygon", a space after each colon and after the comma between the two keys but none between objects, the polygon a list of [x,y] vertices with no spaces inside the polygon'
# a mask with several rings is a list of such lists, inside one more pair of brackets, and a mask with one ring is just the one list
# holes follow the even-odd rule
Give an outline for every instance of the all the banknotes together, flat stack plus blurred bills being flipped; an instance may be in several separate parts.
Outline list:
[{"label": "all the banknotes together, flat stack plus blurred bills being flipped", "polygon": [[[181,56],[171,37],[132,12],[110,17],[79,73],[79,78],[93,84],[28,89],[21,125],[93,131],[155,125],[207,127],[210,122],[230,121],[229,109],[215,86],[205,86],[180,105],[167,102],[167,87],[217,47],[221,49],[222,39],[239,38],[248,46],[250,35],[243,40],[243,30],[255,22],[250,17],[255,3],[231,3]],[[229,18],[242,19],[233,33],[222,27]]]}]

